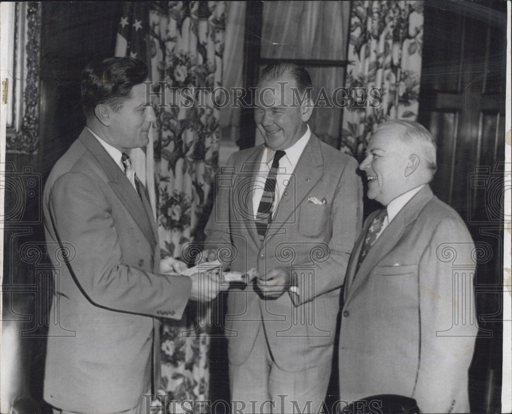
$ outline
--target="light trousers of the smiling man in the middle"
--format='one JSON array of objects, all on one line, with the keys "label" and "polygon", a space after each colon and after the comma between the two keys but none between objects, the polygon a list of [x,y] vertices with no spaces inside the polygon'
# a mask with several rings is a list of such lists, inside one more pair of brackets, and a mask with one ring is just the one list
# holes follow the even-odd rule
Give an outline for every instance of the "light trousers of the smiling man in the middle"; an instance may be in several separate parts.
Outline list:
[{"label": "light trousers of the smiling man in the middle", "polygon": [[280,369],[272,360],[263,326],[247,360],[229,364],[232,414],[318,412],[331,374],[332,348],[318,365],[302,371]]}]

